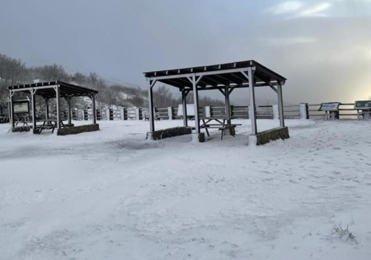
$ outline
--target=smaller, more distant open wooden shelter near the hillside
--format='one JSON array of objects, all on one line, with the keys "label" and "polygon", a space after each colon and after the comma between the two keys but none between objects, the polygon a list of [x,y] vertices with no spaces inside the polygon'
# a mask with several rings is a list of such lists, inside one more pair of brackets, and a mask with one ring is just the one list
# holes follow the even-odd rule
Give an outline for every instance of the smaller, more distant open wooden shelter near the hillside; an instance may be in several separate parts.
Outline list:
[{"label": "smaller, more distant open wooden shelter near the hillside", "polygon": [[92,110],[93,110],[93,124],[96,123],[96,110],[95,110],[95,95],[98,94],[97,90],[84,88],[81,86],[73,85],[70,83],[62,81],[48,81],[48,82],[38,82],[31,84],[22,84],[9,86],[9,96],[10,96],[10,121],[12,123],[12,129],[14,129],[14,93],[24,92],[31,94],[31,114],[32,114],[32,126],[36,129],[36,95],[42,96],[45,100],[45,116],[49,119],[49,99],[56,99],[56,111],[57,111],[57,128],[61,128],[61,114],[60,114],[60,98],[64,98],[68,106],[68,124],[71,124],[72,113],[71,113],[71,98],[75,96],[88,96],[92,99]]}]

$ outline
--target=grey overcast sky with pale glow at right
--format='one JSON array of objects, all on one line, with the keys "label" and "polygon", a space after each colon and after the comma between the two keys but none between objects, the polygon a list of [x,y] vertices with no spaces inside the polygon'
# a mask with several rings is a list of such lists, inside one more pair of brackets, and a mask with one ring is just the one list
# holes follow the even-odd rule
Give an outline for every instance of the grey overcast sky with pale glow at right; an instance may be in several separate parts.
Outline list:
[{"label": "grey overcast sky with pale glow at right", "polygon": [[255,59],[288,78],[286,102],[352,102],[371,95],[371,0],[2,0],[0,53],[141,86],[145,71]]}]

